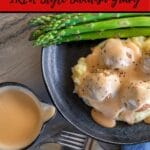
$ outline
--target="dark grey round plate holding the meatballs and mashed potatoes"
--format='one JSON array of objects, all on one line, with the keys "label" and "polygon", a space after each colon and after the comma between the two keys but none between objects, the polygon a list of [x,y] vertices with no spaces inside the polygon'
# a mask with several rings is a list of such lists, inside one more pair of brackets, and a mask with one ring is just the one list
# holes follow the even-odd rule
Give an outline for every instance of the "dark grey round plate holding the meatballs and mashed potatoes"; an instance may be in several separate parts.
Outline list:
[{"label": "dark grey round plate holding the meatballs and mashed potatoes", "polygon": [[109,129],[97,125],[90,117],[90,108],[73,94],[71,67],[90,52],[98,41],[85,41],[50,46],[42,52],[44,79],[53,101],[62,115],[85,134],[101,141],[127,144],[150,140],[150,126],[144,123],[127,125],[118,122]]}]

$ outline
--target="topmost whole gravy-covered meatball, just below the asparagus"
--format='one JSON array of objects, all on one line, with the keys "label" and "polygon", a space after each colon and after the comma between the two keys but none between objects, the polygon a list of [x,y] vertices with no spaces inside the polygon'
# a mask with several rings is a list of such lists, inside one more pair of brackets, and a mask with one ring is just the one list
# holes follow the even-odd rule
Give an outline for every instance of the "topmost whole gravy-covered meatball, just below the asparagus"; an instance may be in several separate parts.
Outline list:
[{"label": "topmost whole gravy-covered meatball, just below the asparagus", "polygon": [[119,39],[109,39],[102,48],[106,66],[113,69],[124,69],[135,61],[132,48],[127,47]]}]

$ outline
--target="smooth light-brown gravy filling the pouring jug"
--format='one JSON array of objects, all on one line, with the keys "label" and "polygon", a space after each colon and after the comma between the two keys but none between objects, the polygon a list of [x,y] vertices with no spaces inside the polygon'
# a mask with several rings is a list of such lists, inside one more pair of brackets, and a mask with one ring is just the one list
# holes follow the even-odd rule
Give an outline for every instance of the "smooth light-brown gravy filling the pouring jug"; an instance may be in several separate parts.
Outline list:
[{"label": "smooth light-brown gravy filling the pouring jug", "polygon": [[16,89],[0,92],[0,145],[26,145],[38,134],[41,116],[32,99]]}]

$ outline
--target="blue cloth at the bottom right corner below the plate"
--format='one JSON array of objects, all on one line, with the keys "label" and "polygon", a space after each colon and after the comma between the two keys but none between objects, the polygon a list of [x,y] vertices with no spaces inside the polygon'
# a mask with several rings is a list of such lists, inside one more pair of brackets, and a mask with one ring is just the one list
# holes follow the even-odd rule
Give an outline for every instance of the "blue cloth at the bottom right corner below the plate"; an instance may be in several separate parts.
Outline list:
[{"label": "blue cloth at the bottom right corner below the plate", "polygon": [[141,144],[122,145],[121,150],[150,150],[150,142]]}]

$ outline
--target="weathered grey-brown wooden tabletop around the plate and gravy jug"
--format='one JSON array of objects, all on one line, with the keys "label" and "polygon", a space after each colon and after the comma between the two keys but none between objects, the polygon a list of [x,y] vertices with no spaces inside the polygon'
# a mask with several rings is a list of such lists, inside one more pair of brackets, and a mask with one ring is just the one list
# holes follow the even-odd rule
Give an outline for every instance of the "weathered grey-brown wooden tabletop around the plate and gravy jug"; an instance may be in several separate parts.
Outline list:
[{"label": "weathered grey-brown wooden tabletop around the plate and gravy jug", "polygon": [[[28,41],[32,29],[27,26],[27,22],[37,15],[40,14],[0,14],[0,83],[25,84],[42,101],[51,103],[42,78],[41,48],[34,48]],[[61,130],[66,121],[58,115],[48,124],[49,126],[43,130],[43,135]]]}]

